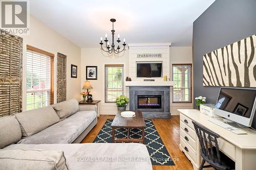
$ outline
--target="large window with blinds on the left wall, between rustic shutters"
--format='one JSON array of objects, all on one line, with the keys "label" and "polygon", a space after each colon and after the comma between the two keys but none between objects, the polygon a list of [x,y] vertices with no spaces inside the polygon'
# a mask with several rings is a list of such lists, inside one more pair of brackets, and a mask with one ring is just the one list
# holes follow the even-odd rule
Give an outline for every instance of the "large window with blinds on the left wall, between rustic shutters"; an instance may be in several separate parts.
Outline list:
[{"label": "large window with blinds on the left wall, between rustic shutters", "polygon": [[53,104],[54,55],[27,45],[26,108]]}]

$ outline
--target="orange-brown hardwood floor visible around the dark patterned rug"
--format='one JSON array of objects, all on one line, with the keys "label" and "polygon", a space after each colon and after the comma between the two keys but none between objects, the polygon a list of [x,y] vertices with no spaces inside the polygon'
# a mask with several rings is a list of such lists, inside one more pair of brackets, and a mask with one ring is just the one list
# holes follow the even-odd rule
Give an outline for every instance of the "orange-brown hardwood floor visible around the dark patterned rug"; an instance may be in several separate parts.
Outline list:
[{"label": "orange-brown hardwood floor visible around the dark patterned rug", "polygon": [[[114,118],[113,115],[100,115],[98,118],[98,124],[92,129],[92,131],[83,139],[82,143],[93,142],[94,138],[99,133],[100,129],[108,118]],[[179,159],[175,161],[175,166],[167,165],[153,165],[154,170],[173,170],[173,169],[185,169],[192,170],[193,166],[186,158],[183,152],[179,150],[180,143],[180,123],[179,116],[172,116],[170,119],[153,119],[153,123],[161,136],[165,147],[167,148],[170,156],[173,159]]]}]

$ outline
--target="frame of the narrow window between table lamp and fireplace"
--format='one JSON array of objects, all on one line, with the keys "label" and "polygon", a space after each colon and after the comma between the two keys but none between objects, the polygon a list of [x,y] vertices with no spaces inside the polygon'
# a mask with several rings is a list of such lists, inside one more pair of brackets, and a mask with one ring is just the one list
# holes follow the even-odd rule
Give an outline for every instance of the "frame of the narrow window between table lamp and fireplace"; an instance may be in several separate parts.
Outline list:
[{"label": "frame of the narrow window between table lamp and fireplace", "polygon": [[104,75],[104,86],[103,86],[103,91],[104,91],[104,103],[102,104],[102,105],[104,105],[104,104],[106,104],[106,105],[114,105],[115,104],[115,102],[108,102],[108,101],[106,101],[106,88],[105,88],[105,85],[106,85],[106,74],[105,74],[105,67],[106,66],[122,66],[123,67],[123,79],[122,79],[122,81],[123,81],[123,88],[122,88],[122,90],[123,90],[123,95],[125,95],[125,85],[124,85],[124,77],[125,77],[125,64],[124,63],[117,63],[117,64],[103,64],[103,75]]}]

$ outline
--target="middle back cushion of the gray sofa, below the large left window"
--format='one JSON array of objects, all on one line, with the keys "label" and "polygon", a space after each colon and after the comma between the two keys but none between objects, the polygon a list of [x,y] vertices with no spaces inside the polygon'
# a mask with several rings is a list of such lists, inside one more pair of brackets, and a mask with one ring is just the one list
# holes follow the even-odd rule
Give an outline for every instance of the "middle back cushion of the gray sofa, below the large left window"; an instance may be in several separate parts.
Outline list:
[{"label": "middle back cushion of the gray sofa, below the large left window", "polygon": [[59,116],[52,106],[17,113],[15,116],[24,137],[31,136],[59,122]]}]

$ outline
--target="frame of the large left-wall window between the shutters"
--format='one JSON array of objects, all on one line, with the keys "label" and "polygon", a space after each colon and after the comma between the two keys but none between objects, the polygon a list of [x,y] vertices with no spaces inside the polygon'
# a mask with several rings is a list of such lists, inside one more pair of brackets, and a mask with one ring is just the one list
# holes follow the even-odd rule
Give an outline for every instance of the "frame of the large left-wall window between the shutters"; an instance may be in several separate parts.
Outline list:
[{"label": "frame of the large left-wall window between the shutters", "polygon": [[[26,48],[26,62],[24,62],[24,64],[25,64],[25,68],[26,68],[26,72],[25,72],[25,86],[24,86],[24,91],[25,91],[25,102],[24,102],[24,110],[26,110],[27,111],[27,92],[31,92],[31,90],[28,90],[27,89],[27,53],[28,53],[28,51],[32,51],[32,52],[35,52],[35,53],[39,53],[39,54],[41,54],[41,55],[45,55],[45,56],[48,56],[48,57],[50,57],[50,65],[51,65],[51,68],[50,68],[50,89],[49,90],[41,90],[41,89],[39,89],[39,90],[32,90],[34,93],[36,93],[36,92],[44,92],[44,91],[48,91],[49,92],[49,106],[50,105],[53,105],[54,104],[54,87],[55,87],[55,79],[54,79],[54,77],[55,77],[55,70],[54,70],[54,67],[55,67],[55,59],[54,59],[54,57],[55,57],[55,55],[54,54],[52,54],[52,53],[49,53],[49,52],[47,52],[47,51],[44,51],[44,50],[40,50],[39,48],[37,48],[37,47],[34,47],[34,46],[31,46],[31,45],[26,45],[27,46],[27,48]],[[41,101],[42,102],[42,101]],[[36,103],[34,103],[34,104],[36,104]],[[34,109],[36,109],[36,108],[34,108]],[[32,110],[34,110],[34,109],[32,109]]]}]

